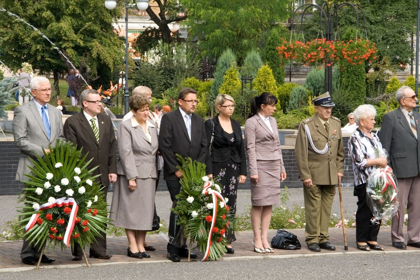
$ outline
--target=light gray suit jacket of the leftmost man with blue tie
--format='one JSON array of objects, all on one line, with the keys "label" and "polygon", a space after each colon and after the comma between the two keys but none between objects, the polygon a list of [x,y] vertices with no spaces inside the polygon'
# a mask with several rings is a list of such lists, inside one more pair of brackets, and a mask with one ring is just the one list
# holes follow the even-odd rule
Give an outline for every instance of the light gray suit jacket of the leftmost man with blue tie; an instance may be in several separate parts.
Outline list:
[{"label": "light gray suit jacket of the leftmost man with blue tie", "polygon": [[54,147],[57,139],[65,140],[61,111],[49,104],[47,104],[47,109],[51,126],[51,139],[48,139],[42,117],[33,100],[15,108],[13,137],[16,147],[20,149],[16,180],[28,180],[28,177],[24,174],[29,174],[31,172],[29,166],[33,166],[29,157],[36,159],[36,155],[42,156],[42,148],[48,149],[48,145]]}]

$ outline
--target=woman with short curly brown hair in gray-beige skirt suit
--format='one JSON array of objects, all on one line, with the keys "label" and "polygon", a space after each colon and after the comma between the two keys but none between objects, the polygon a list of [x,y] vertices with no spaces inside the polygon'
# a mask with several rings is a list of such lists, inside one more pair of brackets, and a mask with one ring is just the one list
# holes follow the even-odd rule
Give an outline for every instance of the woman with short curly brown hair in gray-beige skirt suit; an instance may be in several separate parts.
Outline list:
[{"label": "woman with short curly brown hair in gray-beige skirt suit", "polygon": [[152,229],[156,192],[157,128],[149,117],[150,100],[132,96],[129,101],[133,116],[118,130],[118,179],[112,197],[110,218],[125,229],[127,255],[149,258],[145,252],[146,231]]}]

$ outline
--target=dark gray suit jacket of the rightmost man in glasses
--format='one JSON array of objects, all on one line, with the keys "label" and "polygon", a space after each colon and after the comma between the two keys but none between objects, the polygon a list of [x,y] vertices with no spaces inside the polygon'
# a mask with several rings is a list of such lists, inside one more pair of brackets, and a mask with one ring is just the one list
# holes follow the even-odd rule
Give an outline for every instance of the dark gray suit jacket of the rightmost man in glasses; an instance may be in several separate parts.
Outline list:
[{"label": "dark gray suit jacket of the rightmost man in glasses", "polygon": [[390,166],[397,178],[414,177],[420,173],[420,114],[413,111],[417,139],[401,108],[384,115],[378,137],[388,152]]}]

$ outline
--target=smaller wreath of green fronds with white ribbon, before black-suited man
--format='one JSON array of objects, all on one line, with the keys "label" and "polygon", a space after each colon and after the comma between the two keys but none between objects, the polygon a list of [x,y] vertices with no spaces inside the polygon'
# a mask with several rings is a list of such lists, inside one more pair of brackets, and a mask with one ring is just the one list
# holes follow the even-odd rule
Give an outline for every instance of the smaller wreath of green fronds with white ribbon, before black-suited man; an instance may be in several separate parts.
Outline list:
[{"label": "smaller wreath of green fronds with white ribbon, before black-suited man", "polygon": [[220,187],[206,176],[206,165],[190,158],[181,163],[183,177],[181,192],[173,211],[178,215],[178,225],[183,227],[184,236],[208,257],[217,259],[226,253],[225,232],[232,227],[233,216],[225,204],[227,199],[220,195]]}]

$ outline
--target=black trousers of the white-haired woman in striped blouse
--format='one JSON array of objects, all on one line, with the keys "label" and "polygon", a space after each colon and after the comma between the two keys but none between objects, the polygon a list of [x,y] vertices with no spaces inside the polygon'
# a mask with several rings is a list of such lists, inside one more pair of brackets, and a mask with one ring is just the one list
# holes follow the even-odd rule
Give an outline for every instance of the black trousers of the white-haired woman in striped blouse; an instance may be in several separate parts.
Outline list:
[{"label": "black trousers of the white-haired woman in striped blouse", "polygon": [[354,196],[357,196],[358,199],[356,211],[356,241],[377,241],[381,221],[379,221],[379,224],[372,224],[371,222],[373,214],[367,204],[366,183],[354,187]]}]

